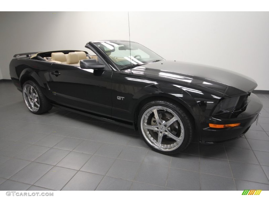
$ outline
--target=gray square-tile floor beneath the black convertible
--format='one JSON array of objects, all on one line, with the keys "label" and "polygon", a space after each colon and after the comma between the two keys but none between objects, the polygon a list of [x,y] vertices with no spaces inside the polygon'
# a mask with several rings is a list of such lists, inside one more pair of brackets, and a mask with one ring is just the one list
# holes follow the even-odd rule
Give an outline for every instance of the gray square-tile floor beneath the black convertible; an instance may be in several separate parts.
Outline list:
[{"label": "gray square-tile floor beneath the black convertible", "polygon": [[116,124],[34,115],[0,82],[0,190],[269,190],[269,95],[258,96],[259,124],[242,138],[167,156]]}]

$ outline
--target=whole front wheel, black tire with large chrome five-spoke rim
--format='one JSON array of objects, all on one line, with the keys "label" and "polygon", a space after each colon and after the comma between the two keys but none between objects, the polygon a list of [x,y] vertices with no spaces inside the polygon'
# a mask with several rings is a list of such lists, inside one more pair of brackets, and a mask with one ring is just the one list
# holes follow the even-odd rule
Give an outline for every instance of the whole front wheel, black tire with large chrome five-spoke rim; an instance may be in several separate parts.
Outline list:
[{"label": "whole front wheel, black tire with large chrome five-spoke rim", "polygon": [[192,141],[193,128],[185,109],[165,100],[146,104],[138,117],[138,129],[144,141],[162,154],[183,151]]}]

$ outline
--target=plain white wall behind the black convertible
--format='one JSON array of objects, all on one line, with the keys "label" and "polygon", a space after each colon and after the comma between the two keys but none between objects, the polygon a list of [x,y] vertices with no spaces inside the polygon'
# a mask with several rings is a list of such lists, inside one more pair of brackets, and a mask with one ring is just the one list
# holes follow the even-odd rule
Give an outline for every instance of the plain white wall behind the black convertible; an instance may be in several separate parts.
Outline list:
[{"label": "plain white wall behind the black convertible", "polygon": [[[130,37],[167,60],[212,65],[269,90],[269,12],[130,12]],[[92,40],[129,39],[127,12],[0,12],[0,68],[15,53],[86,50]],[[1,75],[0,75],[1,76]]]}]

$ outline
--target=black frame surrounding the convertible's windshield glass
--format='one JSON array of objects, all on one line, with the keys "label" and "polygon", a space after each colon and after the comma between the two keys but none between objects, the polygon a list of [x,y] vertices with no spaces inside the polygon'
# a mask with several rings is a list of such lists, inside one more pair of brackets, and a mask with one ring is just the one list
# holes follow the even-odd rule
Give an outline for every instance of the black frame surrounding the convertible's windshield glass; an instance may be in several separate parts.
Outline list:
[{"label": "black frame surrounding the convertible's windshield glass", "polygon": [[[155,54],[155,55],[157,55],[159,57],[159,58],[154,58],[153,61],[150,61],[150,62],[143,63],[141,61],[143,64],[139,64],[139,65],[145,65],[145,64],[148,64],[148,63],[151,63],[151,62],[155,62],[156,60],[158,60],[158,61],[164,61],[165,60],[164,58],[162,58],[160,55],[158,55],[154,51],[152,51],[149,48],[141,45],[140,43],[134,42],[134,41],[127,41],[127,40],[101,40],[101,41],[91,41],[91,42],[87,43],[85,47],[87,47],[89,49],[93,48],[96,52],[98,52],[99,55],[101,55],[102,58],[104,58],[104,60],[109,63],[111,69],[114,70],[114,71],[122,71],[121,69],[126,70],[126,69],[129,69],[129,68],[133,68],[136,65],[133,65],[131,62],[128,65],[127,64],[126,65],[116,64],[114,61],[112,61],[112,59],[103,50],[101,50],[101,48],[99,48],[97,46],[97,43],[104,43],[104,42],[110,42],[110,43],[113,43],[113,42],[125,42],[125,43],[128,42],[128,43],[130,43],[130,42],[132,42],[132,43],[135,43],[135,44],[140,45],[141,47],[145,48],[148,51],[151,51],[151,53],[153,53],[153,54]],[[137,66],[139,66],[139,65],[137,65]]]}]

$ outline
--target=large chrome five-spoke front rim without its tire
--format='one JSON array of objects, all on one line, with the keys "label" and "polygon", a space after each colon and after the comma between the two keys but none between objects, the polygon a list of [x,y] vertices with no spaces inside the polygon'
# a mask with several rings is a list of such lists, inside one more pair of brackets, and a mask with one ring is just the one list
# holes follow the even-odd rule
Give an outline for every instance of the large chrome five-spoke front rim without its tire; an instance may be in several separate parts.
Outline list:
[{"label": "large chrome five-spoke front rim without its tire", "polygon": [[181,119],[167,107],[154,106],[147,109],[142,115],[140,127],[146,141],[161,151],[173,151],[184,140]]}]

